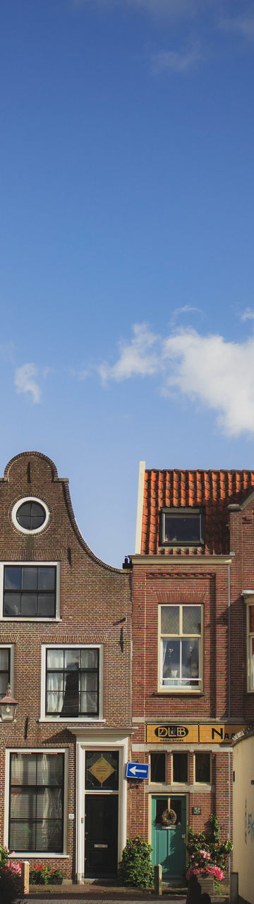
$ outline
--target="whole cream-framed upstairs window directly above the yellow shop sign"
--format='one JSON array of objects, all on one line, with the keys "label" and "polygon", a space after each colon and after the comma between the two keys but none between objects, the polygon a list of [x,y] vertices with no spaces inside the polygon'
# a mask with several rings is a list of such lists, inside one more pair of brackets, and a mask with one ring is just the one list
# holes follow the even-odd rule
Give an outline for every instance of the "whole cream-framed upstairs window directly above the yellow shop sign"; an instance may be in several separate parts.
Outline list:
[{"label": "whole cream-framed upstairs window directly above the yellow shop sign", "polygon": [[202,689],[202,607],[159,607],[159,688]]}]

